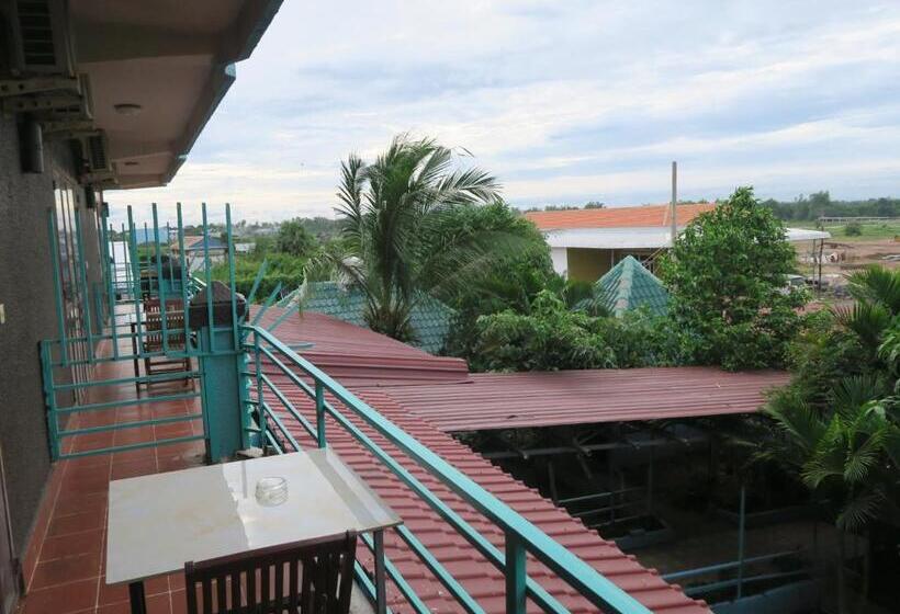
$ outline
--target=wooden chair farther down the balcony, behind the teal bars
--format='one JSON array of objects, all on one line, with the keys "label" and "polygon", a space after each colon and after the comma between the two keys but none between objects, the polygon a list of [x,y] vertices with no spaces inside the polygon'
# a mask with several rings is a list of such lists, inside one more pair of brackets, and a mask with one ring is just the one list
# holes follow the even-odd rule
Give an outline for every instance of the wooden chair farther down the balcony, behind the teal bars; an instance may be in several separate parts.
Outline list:
[{"label": "wooden chair farther down the balcony, behind the teal bars", "polygon": [[[162,305],[159,298],[144,300],[144,351],[161,352],[162,345]],[[184,352],[187,349],[184,337],[184,303],[181,299],[166,299],[166,345],[170,352]],[[191,359],[148,356],[144,359],[144,373],[160,375],[191,371]],[[184,384],[193,387],[193,378],[185,378]],[[168,384],[169,382],[160,382]],[[153,383],[147,383],[149,389]]]}]

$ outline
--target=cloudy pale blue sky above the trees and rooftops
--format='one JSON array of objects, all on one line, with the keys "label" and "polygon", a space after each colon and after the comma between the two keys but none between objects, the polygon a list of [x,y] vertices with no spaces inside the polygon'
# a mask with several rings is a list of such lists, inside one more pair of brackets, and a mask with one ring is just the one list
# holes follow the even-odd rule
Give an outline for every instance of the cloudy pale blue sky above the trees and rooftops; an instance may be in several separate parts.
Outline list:
[{"label": "cloudy pale blue sky above the trees and rooftops", "polygon": [[175,181],[108,200],[331,216],[402,132],[521,207],[663,202],[672,160],[683,198],[898,195],[900,2],[285,0]]}]

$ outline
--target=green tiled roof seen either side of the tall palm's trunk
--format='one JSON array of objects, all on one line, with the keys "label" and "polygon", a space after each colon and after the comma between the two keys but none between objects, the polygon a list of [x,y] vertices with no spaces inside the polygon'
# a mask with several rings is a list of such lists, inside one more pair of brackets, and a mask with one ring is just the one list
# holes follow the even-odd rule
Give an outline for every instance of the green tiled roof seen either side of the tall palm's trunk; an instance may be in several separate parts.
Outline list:
[{"label": "green tiled roof seen either side of the tall palm's trunk", "polygon": [[[344,287],[337,282],[307,284],[306,297],[303,300],[304,311],[325,314],[358,327],[365,327],[362,317],[364,309],[365,298],[359,288]],[[410,321],[416,341],[410,345],[429,354],[440,352],[452,317],[453,309],[431,296],[423,297],[413,308]]]}]

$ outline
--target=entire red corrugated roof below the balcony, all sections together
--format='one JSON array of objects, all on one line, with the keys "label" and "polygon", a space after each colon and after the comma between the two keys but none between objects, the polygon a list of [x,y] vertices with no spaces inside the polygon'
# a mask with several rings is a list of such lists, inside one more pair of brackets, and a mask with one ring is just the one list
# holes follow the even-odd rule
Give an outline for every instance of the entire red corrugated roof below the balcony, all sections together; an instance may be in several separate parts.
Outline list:
[{"label": "entire red corrugated roof below the balcony, all sections together", "polygon": [[[273,321],[283,310],[263,316]],[[448,433],[475,429],[539,427],[649,420],[756,411],[762,390],[787,380],[779,373],[723,373],[705,367],[627,371],[469,374],[457,359],[431,356],[368,329],[319,314],[288,318],[277,330],[288,343],[313,342],[301,353],[357,391],[371,407],[427,445],[448,463],[521,513],[536,526],[570,548],[651,611],[699,614],[709,609],[642,567],[614,542],[573,519],[532,488],[528,488]],[[311,400],[286,376],[267,371],[307,418]],[[383,386],[383,387],[382,387]],[[279,407],[270,397],[272,407]],[[284,422],[301,442],[312,443],[286,412]],[[462,498],[364,424],[348,416],[368,436],[397,459],[497,547],[503,534]],[[387,471],[363,446],[329,419],[328,442],[338,454],[403,518],[406,526],[466,588],[486,612],[505,611],[504,578],[431,508]],[[386,553],[417,594],[434,612],[459,612],[459,605],[395,533],[385,536]],[[358,555],[369,560],[363,547]],[[529,558],[529,575],[573,612],[596,612],[543,565]],[[397,613],[412,610],[392,587],[390,605]],[[529,611],[537,609],[530,607]]]}]

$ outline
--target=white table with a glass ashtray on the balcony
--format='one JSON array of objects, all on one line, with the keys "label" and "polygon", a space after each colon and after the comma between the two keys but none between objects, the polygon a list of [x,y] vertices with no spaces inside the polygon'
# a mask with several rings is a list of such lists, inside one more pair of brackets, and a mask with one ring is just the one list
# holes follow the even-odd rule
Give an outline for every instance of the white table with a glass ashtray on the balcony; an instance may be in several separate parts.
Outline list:
[{"label": "white table with a glass ashtray on the balcony", "polygon": [[[288,480],[288,500],[256,500],[263,477]],[[257,548],[373,532],[402,520],[329,448],[195,467],[110,482],[106,583],[130,583],[132,612],[144,610],[144,580]],[[375,576],[384,602],[384,553]],[[380,576],[380,578],[378,578]],[[378,582],[376,582],[378,583]]]}]

